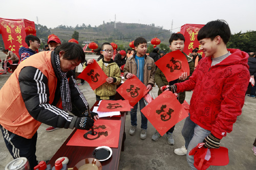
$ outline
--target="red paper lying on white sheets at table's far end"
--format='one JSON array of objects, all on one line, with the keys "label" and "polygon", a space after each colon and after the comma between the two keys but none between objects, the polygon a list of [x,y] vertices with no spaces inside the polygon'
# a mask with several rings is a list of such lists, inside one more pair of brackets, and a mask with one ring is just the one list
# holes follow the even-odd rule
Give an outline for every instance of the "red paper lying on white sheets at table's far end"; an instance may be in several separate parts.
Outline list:
[{"label": "red paper lying on white sheets at table's far end", "polygon": [[131,106],[128,100],[103,100],[100,102],[99,108],[97,111],[100,112],[114,112],[114,111],[131,111]]}]

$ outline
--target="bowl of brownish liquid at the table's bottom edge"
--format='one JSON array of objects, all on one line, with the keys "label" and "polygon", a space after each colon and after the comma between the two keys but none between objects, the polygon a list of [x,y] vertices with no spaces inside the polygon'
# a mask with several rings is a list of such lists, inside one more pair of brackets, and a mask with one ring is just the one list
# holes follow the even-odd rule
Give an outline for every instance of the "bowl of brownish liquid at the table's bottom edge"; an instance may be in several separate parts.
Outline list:
[{"label": "bowl of brownish liquid at the table's bottom edge", "polygon": [[95,158],[86,158],[80,160],[73,170],[86,170],[86,169],[93,169],[93,170],[102,170],[102,165],[100,161]]}]

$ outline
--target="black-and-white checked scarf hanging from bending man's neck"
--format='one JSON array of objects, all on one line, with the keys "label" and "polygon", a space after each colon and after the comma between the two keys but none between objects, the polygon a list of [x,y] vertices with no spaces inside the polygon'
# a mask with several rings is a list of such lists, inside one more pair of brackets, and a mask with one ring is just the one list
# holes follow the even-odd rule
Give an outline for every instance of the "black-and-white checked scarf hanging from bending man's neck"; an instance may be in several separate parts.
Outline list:
[{"label": "black-and-white checked scarf hanging from bending man's neck", "polygon": [[67,72],[61,71],[59,55],[54,54],[54,58],[57,65],[58,75],[60,77],[60,96],[62,101],[62,107],[63,107],[63,110],[65,111],[71,111],[72,110],[71,94],[70,94],[69,81],[67,78]]}]

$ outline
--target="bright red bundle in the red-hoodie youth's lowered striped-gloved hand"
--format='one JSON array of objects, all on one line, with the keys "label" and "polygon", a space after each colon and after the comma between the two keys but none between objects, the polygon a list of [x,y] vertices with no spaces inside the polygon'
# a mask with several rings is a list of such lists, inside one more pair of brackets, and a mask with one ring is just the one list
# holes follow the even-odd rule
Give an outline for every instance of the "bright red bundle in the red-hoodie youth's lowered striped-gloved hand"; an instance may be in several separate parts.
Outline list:
[{"label": "bright red bundle in the red-hoodie youth's lowered striped-gloved hand", "polygon": [[208,149],[203,147],[204,143],[199,143],[193,148],[189,155],[194,155],[194,166],[197,169],[207,169],[210,165],[225,166],[229,162],[228,149]]}]

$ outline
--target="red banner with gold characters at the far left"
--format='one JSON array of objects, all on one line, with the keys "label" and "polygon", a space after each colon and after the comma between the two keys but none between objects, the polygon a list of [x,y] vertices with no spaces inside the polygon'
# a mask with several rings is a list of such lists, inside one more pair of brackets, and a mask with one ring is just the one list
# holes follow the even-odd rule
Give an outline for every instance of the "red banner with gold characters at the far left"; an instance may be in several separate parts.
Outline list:
[{"label": "red banner with gold characters at the far left", "polygon": [[[0,18],[0,34],[2,34],[5,48],[15,53],[18,57],[20,47],[28,47],[25,42],[27,36],[25,28],[35,28],[35,23],[27,19],[5,19]],[[33,34],[36,36],[36,34]]]}]

